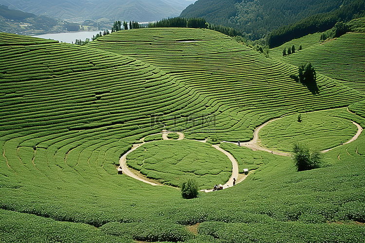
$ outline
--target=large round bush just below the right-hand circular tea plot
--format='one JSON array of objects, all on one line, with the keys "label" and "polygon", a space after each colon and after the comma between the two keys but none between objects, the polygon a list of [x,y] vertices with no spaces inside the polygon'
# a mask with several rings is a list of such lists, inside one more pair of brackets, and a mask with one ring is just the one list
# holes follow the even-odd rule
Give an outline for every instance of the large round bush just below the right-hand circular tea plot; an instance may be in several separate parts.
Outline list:
[{"label": "large round bush just below the right-hand circular tea plot", "polygon": [[321,154],[319,151],[310,151],[308,145],[299,142],[293,145],[293,160],[298,171],[307,171],[319,168]]}]

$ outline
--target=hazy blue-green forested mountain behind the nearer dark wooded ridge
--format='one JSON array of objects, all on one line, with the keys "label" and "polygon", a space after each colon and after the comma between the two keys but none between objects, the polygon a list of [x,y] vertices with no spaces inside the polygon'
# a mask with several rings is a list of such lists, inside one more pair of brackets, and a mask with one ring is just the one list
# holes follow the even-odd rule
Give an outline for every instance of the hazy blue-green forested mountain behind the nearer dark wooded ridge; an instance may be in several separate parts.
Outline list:
[{"label": "hazy blue-green forested mountain behind the nearer dark wooded ridge", "polygon": [[259,39],[283,25],[336,11],[355,1],[198,0],[184,9],[180,16],[203,17],[209,23],[233,27],[247,33],[250,39]]}]

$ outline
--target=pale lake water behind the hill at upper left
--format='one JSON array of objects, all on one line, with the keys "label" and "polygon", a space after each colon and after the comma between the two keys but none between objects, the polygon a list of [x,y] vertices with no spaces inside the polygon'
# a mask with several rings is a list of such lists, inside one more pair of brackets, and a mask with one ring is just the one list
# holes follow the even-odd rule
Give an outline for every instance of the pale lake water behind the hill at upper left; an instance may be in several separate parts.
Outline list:
[{"label": "pale lake water behind the hill at upper left", "polygon": [[[109,32],[111,32],[109,30]],[[91,40],[92,35],[99,34],[100,31],[78,31],[78,32],[68,32],[68,33],[57,33],[57,34],[46,34],[46,35],[32,35],[32,37],[38,37],[43,39],[54,39],[67,43],[75,43],[76,39],[85,40],[89,38]]]}]

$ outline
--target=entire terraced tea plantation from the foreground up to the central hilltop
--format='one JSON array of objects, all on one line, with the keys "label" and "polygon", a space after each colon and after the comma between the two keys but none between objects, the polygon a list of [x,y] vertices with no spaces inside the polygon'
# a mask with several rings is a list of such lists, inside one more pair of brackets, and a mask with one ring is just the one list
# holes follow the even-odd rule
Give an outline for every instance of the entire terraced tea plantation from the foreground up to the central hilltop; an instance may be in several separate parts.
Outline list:
[{"label": "entire terraced tea plantation from the foreground up to the central hilltop", "polygon": [[[0,33],[0,55],[1,242],[365,241],[364,133],[305,172],[289,156],[222,142],[240,173],[253,171],[235,187],[189,200],[116,169],[146,137],[153,142],[128,155],[132,167],[143,162],[147,175],[178,185],[166,168],[175,156],[183,164],[174,172],[200,167],[199,180],[209,175],[201,185],[224,182],[232,164],[210,143],[248,141],[284,115],[275,136],[262,135],[267,146],[284,149],[305,134],[330,147],[353,136],[350,121],[365,127],[361,75],[351,73],[356,89],[319,73],[309,89],[290,77],[296,66],[201,29],[121,31],[86,46]],[[286,130],[292,136],[274,130],[298,113],[303,124]],[[334,136],[323,138],[321,126]],[[162,140],[154,135],[162,130],[208,142]]]}]

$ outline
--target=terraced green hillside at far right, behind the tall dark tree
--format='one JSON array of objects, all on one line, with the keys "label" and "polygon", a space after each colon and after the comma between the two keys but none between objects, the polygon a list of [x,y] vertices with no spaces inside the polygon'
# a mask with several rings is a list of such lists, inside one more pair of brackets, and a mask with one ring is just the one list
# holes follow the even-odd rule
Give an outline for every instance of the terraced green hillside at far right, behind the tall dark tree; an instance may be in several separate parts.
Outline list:
[{"label": "terraced green hillside at far right, behind the tall dark tree", "polygon": [[[307,35],[271,49],[270,56],[295,66],[310,62],[318,73],[364,93],[365,33],[347,33],[324,42],[319,40],[320,34]],[[296,50],[302,45],[303,50],[283,56],[283,49],[292,45]]]}]

